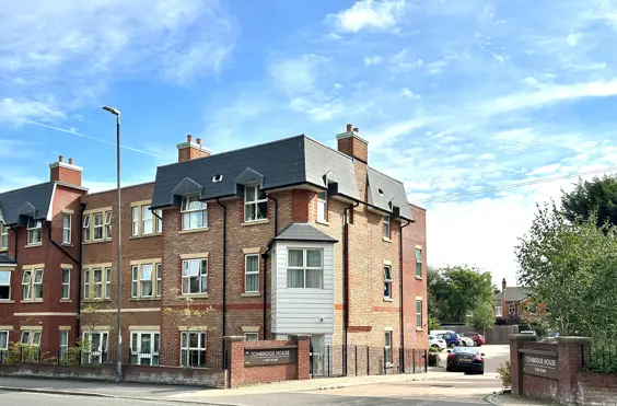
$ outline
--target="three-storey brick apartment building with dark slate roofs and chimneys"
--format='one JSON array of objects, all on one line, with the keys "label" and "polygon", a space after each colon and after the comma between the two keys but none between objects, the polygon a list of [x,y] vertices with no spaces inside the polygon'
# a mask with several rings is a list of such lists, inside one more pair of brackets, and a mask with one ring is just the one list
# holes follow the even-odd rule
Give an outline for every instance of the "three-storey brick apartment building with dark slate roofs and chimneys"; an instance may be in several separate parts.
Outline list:
[{"label": "three-storey brick apartment building with dark slate roofs and chimneys", "polygon": [[[427,347],[426,211],[368,165],[357,128],[337,140],[211,154],[188,136],[153,183],[121,189],[124,358],[200,366],[238,335]],[[0,349],[115,346],[117,194],[88,194],[81,173],[60,158],[50,182],[0,194]]]}]

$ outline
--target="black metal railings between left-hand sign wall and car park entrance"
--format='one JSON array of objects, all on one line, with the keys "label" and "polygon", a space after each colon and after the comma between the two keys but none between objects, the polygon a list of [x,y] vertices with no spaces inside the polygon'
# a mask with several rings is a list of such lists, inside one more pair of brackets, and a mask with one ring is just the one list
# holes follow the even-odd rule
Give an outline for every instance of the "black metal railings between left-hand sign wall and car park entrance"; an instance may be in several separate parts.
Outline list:
[{"label": "black metal railings between left-hand sign wall and car park entrance", "polygon": [[369,346],[311,347],[312,378],[427,372],[428,351]]}]

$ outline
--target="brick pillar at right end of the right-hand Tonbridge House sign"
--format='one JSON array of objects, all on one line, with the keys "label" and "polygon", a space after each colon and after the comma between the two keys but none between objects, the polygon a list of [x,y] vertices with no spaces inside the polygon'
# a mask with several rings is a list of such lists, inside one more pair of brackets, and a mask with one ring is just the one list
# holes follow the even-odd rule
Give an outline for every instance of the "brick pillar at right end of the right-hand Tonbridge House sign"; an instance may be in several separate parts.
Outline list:
[{"label": "brick pillar at right end of the right-hand Tonbridge House sign", "polygon": [[578,386],[577,375],[582,371],[584,362],[590,361],[591,338],[558,337],[557,351],[559,353],[559,401],[575,402]]}]

